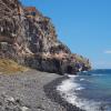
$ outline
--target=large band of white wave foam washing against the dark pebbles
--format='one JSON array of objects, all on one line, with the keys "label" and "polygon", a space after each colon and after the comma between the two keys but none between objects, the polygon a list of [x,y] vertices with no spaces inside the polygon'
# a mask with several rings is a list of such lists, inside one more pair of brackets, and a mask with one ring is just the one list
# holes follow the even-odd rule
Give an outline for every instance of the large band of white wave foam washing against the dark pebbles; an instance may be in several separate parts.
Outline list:
[{"label": "large band of white wave foam washing against the dark pebbles", "polygon": [[75,77],[72,77],[72,78],[73,79],[68,79],[68,80],[62,81],[62,83],[57,87],[57,90],[62,95],[62,98],[64,98],[69,103],[77,105],[82,110],[101,111],[99,108],[99,105],[101,104],[100,102],[88,101],[85,99],[80,99],[75,95],[74,91],[82,90],[83,88],[81,88],[80,84],[74,82]]}]

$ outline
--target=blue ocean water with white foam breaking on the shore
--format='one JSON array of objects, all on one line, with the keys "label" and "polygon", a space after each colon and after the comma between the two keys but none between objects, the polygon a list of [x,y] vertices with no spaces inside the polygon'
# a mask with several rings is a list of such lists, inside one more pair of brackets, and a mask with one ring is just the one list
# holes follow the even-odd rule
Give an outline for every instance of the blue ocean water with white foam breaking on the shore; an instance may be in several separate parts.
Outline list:
[{"label": "blue ocean water with white foam breaking on the shore", "polygon": [[85,111],[111,111],[111,70],[69,75],[57,90],[65,101]]}]

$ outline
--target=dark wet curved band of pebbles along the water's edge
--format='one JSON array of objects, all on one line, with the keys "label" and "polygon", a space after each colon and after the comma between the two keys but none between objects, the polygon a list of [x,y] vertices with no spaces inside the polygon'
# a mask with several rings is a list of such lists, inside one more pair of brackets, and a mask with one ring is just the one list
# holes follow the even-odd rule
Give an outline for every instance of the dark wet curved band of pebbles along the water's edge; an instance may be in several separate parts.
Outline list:
[{"label": "dark wet curved band of pebbles along the water's edge", "polygon": [[62,105],[67,111],[84,111],[81,110],[80,108],[72,105],[71,103],[69,103],[68,101],[65,101],[57,91],[57,85],[59,85],[63,80],[69,79],[68,75],[58,78],[53,81],[51,81],[50,83],[46,84],[43,87],[46,95],[51,99],[53,102],[59,103],[60,105]]}]

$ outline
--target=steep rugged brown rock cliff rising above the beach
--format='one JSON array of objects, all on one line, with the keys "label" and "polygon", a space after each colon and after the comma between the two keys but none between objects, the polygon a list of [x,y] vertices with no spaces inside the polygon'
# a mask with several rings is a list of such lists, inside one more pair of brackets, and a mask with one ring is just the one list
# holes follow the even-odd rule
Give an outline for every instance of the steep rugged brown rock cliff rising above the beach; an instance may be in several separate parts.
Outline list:
[{"label": "steep rugged brown rock cliff rising above the beach", "polygon": [[18,0],[0,0],[0,57],[28,67],[57,73],[90,70],[88,59],[72,54],[58,40],[48,17]]}]

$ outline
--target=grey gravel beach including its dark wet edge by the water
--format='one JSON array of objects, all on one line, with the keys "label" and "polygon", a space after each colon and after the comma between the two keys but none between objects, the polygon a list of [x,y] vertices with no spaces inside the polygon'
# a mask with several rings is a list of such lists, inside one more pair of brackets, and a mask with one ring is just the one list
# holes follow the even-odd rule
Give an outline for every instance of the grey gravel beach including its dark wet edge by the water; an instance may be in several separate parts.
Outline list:
[{"label": "grey gravel beach including its dark wet edge by the water", "polygon": [[0,111],[81,111],[56,92],[61,78],[36,70],[0,74]]}]

